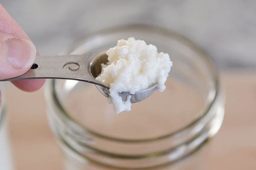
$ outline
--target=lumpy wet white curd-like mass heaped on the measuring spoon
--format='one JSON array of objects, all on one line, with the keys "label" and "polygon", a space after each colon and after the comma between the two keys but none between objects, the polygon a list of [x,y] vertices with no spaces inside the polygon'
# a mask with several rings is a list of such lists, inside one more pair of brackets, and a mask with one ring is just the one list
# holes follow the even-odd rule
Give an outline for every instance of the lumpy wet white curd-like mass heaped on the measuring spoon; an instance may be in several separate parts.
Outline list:
[{"label": "lumpy wet white curd-like mass heaped on the measuring spoon", "polygon": [[157,91],[164,91],[164,83],[172,67],[169,54],[157,52],[155,45],[147,45],[143,40],[119,40],[106,54],[108,62],[102,64],[102,72],[97,81],[110,89],[110,101],[114,111],[131,111],[131,96],[122,100],[119,93],[146,89],[157,83]]}]

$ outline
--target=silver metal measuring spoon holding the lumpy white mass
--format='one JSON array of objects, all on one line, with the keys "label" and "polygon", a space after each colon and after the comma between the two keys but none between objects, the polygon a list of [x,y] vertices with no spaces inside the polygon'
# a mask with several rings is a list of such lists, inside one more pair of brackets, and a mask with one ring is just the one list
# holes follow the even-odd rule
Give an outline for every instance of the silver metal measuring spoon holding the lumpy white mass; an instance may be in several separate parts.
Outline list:
[{"label": "silver metal measuring spoon holding the lumpy white mass", "polygon": [[[101,54],[76,54],[62,56],[37,56],[32,67],[25,74],[0,81],[13,81],[22,79],[73,79],[95,84],[99,91],[109,97],[109,88],[96,81],[101,73],[101,64],[108,62],[108,56]],[[122,100],[126,101],[131,95],[131,102],[140,102],[154,93],[157,84],[135,94],[128,92],[119,93]]]}]

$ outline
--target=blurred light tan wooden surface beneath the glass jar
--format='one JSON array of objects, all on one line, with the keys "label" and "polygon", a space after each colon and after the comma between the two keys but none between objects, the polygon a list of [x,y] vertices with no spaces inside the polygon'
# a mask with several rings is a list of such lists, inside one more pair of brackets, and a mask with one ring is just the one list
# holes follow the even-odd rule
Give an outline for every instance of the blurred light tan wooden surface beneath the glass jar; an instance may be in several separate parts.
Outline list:
[{"label": "blurred light tan wooden surface beneath the glass jar", "polygon": [[[226,93],[223,125],[215,138],[200,150],[203,154],[189,169],[255,170],[256,72],[226,72],[221,79]],[[26,93],[12,86],[6,90],[8,128],[16,169],[63,169],[61,151],[47,124],[43,91]],[[192,159],[188,157],[186,161]]]}]

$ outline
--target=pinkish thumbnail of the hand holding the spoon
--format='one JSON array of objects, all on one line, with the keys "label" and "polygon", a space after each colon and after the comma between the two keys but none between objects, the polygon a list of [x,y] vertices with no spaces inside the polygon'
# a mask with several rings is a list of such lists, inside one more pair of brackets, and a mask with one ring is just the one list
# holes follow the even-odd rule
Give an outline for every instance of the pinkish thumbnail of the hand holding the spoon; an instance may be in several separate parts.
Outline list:
[{"label": "pinkish thumbnail of the hand holding the spoon", "polygon": [[35,45],[29,40],[10,38],[5,41],[8,62],[15,68],[28,68],[35,60]]}]

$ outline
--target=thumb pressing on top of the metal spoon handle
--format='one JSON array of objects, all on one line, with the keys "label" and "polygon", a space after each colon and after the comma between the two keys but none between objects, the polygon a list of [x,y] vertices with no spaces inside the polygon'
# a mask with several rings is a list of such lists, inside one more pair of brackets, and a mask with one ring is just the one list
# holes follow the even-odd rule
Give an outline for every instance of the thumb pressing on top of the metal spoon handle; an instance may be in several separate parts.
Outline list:
[{"label": "thumb pressing on top of the metal spoon handle", "polygon": [[24,74],[35,56],[36,48],[31,41],[0,31],[0,79]]}]

